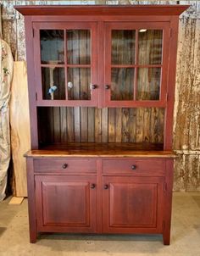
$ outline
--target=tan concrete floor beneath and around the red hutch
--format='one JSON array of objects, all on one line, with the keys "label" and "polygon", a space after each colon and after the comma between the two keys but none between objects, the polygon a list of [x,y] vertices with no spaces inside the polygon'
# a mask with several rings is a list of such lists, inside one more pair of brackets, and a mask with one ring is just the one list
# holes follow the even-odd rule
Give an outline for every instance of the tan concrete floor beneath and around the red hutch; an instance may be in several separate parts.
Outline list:
[{"label": "tan concrete floor beneath and around the red hutch", "polygon": [[171,245],[161,236],[42,235],[29,242],[27,200],[0,203],[1,256],[200,256],[200,193],[174,193]]}]

